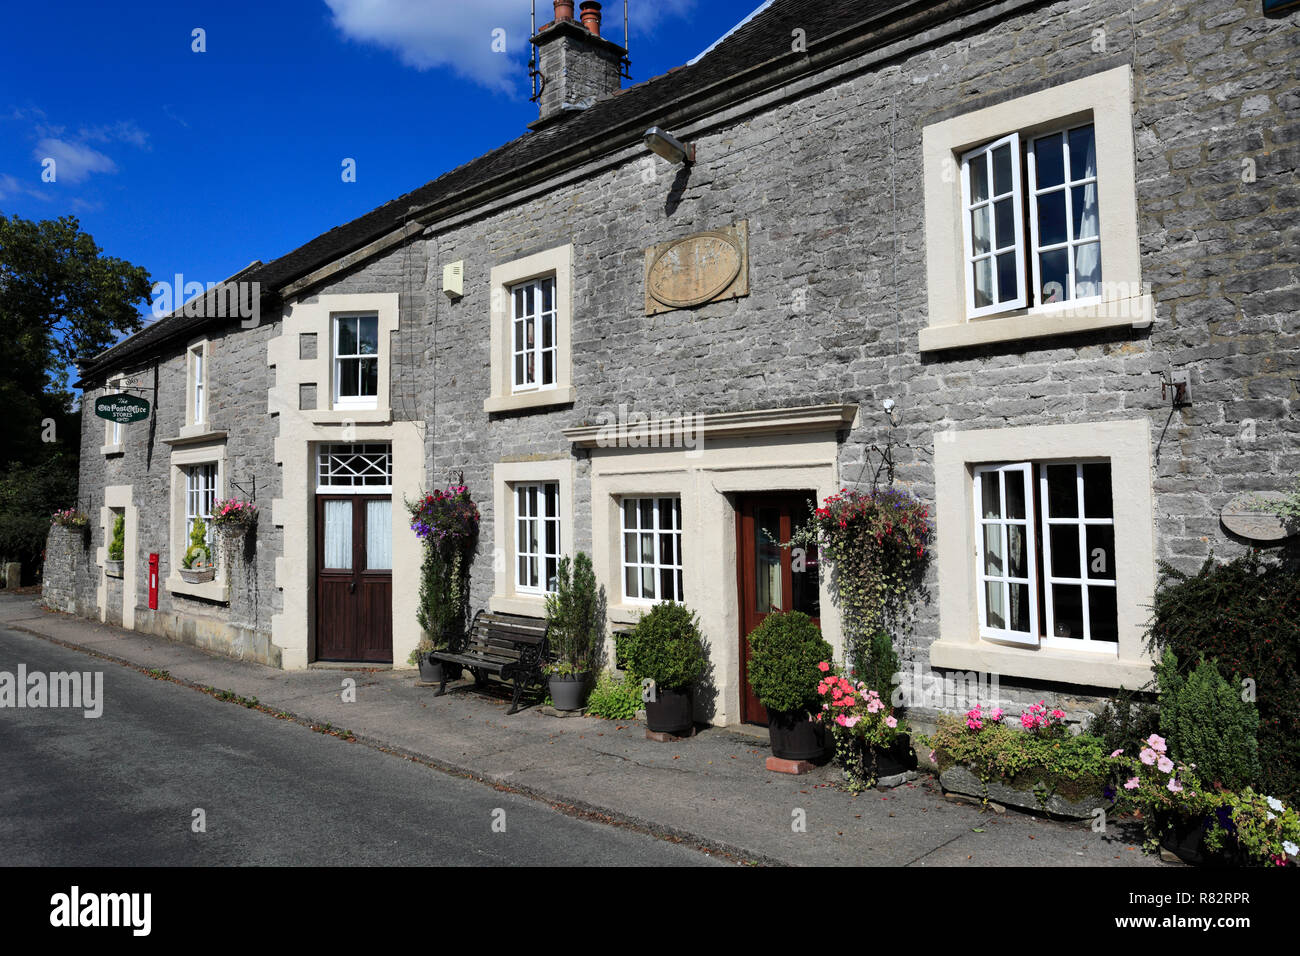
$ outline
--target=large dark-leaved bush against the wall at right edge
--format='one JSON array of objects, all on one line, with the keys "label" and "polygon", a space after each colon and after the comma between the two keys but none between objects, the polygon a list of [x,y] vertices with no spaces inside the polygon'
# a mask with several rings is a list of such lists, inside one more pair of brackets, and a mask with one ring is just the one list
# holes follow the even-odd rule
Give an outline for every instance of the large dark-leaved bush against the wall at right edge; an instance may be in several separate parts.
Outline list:
[{"label": "large dark-leaved bush against the wall at right edge", "polygon": [[1161,563],[1149,627],[1157,653],[1174,650],[1187,675],[1202,658],[1249,679],[1260,713],[1256,790],[1300,803],[1300,570],[1248,551],[1210,557],[1195,575]]}]

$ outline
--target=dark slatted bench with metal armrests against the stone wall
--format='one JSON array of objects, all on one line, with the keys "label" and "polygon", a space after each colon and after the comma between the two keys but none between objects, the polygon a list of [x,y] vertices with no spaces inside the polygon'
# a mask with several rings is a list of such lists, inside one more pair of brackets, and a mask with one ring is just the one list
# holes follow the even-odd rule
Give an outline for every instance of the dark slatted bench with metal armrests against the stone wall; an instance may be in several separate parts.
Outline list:
[{"label": "dark slatted bench with metal armrests against the stone wall", "polygon": [[[517,614],[491,614],[480,610],[469,626],[465,646],[459,650],[436,650],[430,657],[443,665],[468,669],[474,683],[482,687],[489,676],[515,685],[515,698],[507,714],[519,710],[519,698],[530,684],[546,682],[543,667],[550,659],[546,622]],[[437,696],[447,692],[448,667],[442,669]],[[456,672],[459,678],[459,671]]]}]

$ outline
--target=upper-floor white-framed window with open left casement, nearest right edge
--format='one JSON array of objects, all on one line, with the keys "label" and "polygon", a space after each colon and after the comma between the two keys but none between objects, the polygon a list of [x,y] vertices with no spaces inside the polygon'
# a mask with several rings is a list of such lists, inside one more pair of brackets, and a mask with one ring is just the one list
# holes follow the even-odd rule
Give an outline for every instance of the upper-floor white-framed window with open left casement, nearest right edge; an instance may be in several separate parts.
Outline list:
[{"label": "upper-floor white-framed window with open left casement, nearest right edge", "polygon": [[963,153],[962,225],[967,317],[1097,299],[1093,125],[1011,133]]}]

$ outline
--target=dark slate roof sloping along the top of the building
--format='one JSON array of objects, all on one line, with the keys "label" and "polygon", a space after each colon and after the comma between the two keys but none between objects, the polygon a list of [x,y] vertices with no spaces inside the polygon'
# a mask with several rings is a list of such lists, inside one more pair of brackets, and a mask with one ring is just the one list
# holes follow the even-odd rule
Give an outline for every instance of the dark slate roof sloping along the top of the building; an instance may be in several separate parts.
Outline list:
[{"label": "dark slate roof sloping along the top of the building", "polygon": [[[741,78],[781,66],[797,66],[806,57],[792,49],[796,29],[806,31],[809,51],[815,52],[818,44],[831,36],[870,33],[898,16],[945,5],[954,7],[952,0],[775,0],[693,64],[620,90],[560,122],[525,133],[278,259],[255,263],[228,281],[260,282],[265,295],[402,228],[411,220],[413,209],[458,200],[473,204],[476,196],[482,198],[499,186],[517,187],[530,173],[571,153],[590,151],[590,155],[599,155],[621,150],[640,140],[647,127],[663,121],[658,117],[673,116],[680,121],[692,113],[692,103],[698,109],[705,99],[714,100],[719,94],[725,96],[727,87],[737,86]],[[789,78],[783,75],[780,82],[789,82]],[[718,107],[711,101],[708,109]],[[92,382],[104,372],[142,360],[169,342],[192,337],[214,321],[224,320],[187,319],[177,310],[83,363],[82,380]]]}]

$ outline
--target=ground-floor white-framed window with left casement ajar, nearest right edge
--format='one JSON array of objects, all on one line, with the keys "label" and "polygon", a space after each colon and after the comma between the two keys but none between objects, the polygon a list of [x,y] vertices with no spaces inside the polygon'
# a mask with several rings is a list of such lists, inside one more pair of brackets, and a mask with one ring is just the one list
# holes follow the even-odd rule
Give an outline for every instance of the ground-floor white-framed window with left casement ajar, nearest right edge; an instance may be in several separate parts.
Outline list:
[{"label": "ground-floor white-framed window with left casement ajar, nearest right edge", "polygon": [[974,470],[980,636],[1117,653],[1110,462]]}]

